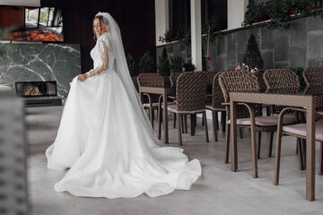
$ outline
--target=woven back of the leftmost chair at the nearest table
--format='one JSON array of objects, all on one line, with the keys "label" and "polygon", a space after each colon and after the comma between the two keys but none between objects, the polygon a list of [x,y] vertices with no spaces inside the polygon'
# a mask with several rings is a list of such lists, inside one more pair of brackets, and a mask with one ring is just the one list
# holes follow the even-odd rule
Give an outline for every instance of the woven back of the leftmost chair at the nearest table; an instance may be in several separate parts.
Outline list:
[{"label": "woven back of the leftmost chair at the nearest table", "polygon": [[[223,91],[224,102],[230,102],[229,92],[259,92],[258,78],[250,72],[225,71],[220,73],[219,82]],[[262,115],[261,104],[250,104],[255,116]],[[237,106],[237,118],[249,117],[249,110],[244,106]]]}]

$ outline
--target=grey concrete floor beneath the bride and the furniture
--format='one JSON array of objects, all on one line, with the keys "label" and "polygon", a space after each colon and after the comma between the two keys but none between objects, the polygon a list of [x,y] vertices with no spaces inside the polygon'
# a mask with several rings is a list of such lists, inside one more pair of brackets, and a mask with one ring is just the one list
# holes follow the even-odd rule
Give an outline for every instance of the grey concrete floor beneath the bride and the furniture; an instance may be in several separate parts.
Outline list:
[{"label": "grey concrete floor beneath the bride and the furniture", "polygon": [[[219,142],[214,142],[209,120],[210,142],[205,143],[200,119],[195,136],[183,134],[186,154],[202,164],[203,174],[191,190],[157,198],[142,194],[117,200],[56,193],[53,185],[65,172],[47,169],[44,152],[55,140],[61,113],[62,107],[26,109],[31,214],[323,214],[323,176],[316,175],[316,201],[306,201],[305,171],[298,169],[294,138],[283,138],[280,185],[275,186],[275,145],[274,157],[267,158],[269,136],[266,133],[262,138],[262,159],[258,160],[259,178],[255,179],[249,131],[244,130],[244,138],[238,139],[240,171],[232,173],[231,165],[223,163],[224,133],[220,132]],[[169,127],[170,146],[177,146],[178,133],[172,128],[172,120]]]}]

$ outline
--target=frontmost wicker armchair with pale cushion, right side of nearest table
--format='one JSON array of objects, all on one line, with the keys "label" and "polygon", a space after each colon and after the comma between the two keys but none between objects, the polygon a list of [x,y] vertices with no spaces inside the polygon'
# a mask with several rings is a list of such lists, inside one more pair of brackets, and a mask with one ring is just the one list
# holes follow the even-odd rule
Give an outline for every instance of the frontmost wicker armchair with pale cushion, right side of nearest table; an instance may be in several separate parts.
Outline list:
[{"label": "frontmost wicker armchair with pale cushion, right side of nearest table", "polygon": [[[276,159],[275,159],[275,181],[274,185],[278,185],[279,183],[279,170],[280,170],[280,154],[281,154],[281,146],[282,146],[282,136],[290,135],[301,139],[306,139],[306,124],[295,124],[295,125],[283,125],[282,119],[284,114],[289,110],[293,109],[296,111],[305,112],[302,108],[295,107],[285,107],[278,119],[278,128],[277,128],[277,142],[276,142]],[[323,115],[323,112],[318,112]],[[320,142],[320,151],[319,151],[319,175],[323,173],[323,119],[320,119],[316,122],[316,133],[315,133],[316,141]]]}]

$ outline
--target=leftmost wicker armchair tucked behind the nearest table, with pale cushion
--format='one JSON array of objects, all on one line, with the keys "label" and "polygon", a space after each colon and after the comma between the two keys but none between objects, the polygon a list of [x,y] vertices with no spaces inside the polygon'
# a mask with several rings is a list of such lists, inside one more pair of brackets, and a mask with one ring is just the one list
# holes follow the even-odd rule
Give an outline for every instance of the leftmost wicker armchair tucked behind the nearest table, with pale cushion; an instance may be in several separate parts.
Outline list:
[{"label": "leftmost wicker armchair tucked behind the nearest table, with pale cushion", "polygon": [[[259,92],[260,86],[258,78],[255,74],[249,72],[223,72],[219,76],[221,89],[223,90],[223,98],[225,103],[230,102],[229,92]],[[227,125],[226,125],[226,143],[225,143],[225,159],[224,162],[228,163],[229,160],[229,107],[227,111]],[[261,116],[261,104],[246,104],[240,103],[237,106],[237,126],[246,127],[251,129],[251,147],[253,159],[253,176],[258,177],[258,161],[257,161],[257,143],[256,133],[261,132],[274,132],[278,121],[278,116]],[[254,120],[253,120],[254,118]],[[295,122],[294,117],[284,117],[284,124],[291,124]],[[258,145],[260,138],[258,139]]]}]

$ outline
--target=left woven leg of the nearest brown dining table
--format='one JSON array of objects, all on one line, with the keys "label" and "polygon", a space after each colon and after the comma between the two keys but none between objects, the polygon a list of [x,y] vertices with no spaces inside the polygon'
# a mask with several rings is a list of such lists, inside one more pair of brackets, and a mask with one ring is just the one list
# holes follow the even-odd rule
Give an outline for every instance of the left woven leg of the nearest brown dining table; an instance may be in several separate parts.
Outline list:
[{"label": "left woven leg of the nearest brown dining table", "polygon": [[230,143],[231,143],[231,171],[238,171],[237,152],[237,103],[230,101]]}]

